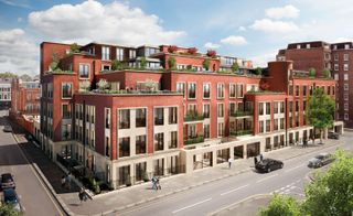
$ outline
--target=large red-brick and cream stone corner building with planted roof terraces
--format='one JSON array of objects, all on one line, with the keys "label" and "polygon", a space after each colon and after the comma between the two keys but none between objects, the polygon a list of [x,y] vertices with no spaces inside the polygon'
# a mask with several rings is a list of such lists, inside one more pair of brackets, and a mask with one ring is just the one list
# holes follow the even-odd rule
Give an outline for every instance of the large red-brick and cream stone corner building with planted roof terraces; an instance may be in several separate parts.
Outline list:
[{"label": "large red-brick and cream stone corner building with planted roof terraces", "polygon": [[[90,43],[81,51],[41,44],[35,134],[54,161],[83,164],[115,188],[301,143],[315,133],[304,118],[309,95],[322,87],[335,96],[335,80],[312,79],[288,61],[255,75],[250,62],[231,72],[233,63],[195,48]],[[51,69],[53,55],[61,69]],[[124,66],[113,71],[114,60]]]}]

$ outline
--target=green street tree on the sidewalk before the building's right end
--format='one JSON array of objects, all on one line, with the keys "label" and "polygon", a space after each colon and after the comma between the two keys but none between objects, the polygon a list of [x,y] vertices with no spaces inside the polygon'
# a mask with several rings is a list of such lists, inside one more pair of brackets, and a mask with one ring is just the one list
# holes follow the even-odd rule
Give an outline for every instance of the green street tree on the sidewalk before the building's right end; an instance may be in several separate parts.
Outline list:
[{"label": "green street tree on the sidewalk before the building's right end", "polygon": [[322,143],[322,131],[333,126],[335,111],[334,100],[324,95],[322,88],[317,88],[309,97],[309,122],[320,130],[320,142]]}]

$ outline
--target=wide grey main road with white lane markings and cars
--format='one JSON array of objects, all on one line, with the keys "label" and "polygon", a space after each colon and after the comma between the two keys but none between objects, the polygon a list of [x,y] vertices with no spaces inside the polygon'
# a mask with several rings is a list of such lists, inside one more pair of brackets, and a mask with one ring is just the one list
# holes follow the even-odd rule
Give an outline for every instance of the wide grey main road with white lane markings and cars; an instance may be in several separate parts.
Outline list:
[{"label": "wide grey main road with white lane markings and cars", "polygon": [[[341,148],[352,149],[353,132],[345,133]],[[303,197],[304,179],[312,169],[309,159],[319,152],[334,152],[336,147],[286,160],[285,168],[270,173],[247,172],[171,195],[163,199],[127,209],[120,215],[208,215],[215,210],[258,194],[291,194]]]}]

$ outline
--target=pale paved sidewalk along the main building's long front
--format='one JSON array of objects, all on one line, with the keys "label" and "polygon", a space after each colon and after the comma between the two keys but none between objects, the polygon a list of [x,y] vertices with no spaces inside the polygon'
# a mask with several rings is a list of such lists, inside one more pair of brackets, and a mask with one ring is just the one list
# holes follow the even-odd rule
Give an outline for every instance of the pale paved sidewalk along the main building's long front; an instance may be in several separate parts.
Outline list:
[{"label": "pale paved sidewalk along the main building's long front", "polygon": [[[288,160],[301,154],[318,151],[332,145],[340,144],[341,141],[327,140],[325,144],[314,144],[311,142],[308,148],[287,147],[280,150],[264,153],[265,158]],[[254,168],[254,159],[234,161],[229,170],[227,163],[196,171],[192,174],[179,174],[171,177],[161,179],[161,191],[151,190],[151,183],[145,183],[132,187],[126,187],[96,195],[94,201],[79,204],[77,194],[66,193],[58,196],[67,205],[71,212],[77,215],[101,215],[116,213],[129,207],[141,205],[146,202],[162,198],[164,196],[190,190],[195,186],[207,184],[239,173],[248,172]]]}]

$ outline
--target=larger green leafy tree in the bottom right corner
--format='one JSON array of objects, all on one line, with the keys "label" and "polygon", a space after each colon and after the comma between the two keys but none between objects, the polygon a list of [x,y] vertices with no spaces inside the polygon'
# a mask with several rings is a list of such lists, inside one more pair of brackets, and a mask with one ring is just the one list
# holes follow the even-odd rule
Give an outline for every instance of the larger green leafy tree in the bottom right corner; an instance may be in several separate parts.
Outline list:
[{"label": "larger green leafy tree in the bottom right corner", "polygon": [[353,212],[353,158],[342,150],[327,173],[320,173],[306,187],[302,209],[307,215],[342,215]]}]

